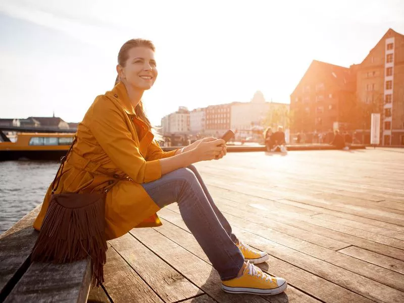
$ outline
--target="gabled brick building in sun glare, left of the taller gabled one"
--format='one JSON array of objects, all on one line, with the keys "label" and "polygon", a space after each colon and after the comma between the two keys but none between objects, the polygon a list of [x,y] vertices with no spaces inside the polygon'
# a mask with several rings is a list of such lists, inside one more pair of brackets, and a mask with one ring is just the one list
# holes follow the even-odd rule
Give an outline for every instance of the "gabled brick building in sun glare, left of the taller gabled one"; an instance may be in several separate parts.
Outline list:
[{"label": "gabled brick building in sun glare, left of the taller gabled one", "polygon": [[355,103],[355,83],[355,68],[313,60],[290,95],[291,133],[328,132],[334,123],[348,127],[351,113],[344,109]]}]

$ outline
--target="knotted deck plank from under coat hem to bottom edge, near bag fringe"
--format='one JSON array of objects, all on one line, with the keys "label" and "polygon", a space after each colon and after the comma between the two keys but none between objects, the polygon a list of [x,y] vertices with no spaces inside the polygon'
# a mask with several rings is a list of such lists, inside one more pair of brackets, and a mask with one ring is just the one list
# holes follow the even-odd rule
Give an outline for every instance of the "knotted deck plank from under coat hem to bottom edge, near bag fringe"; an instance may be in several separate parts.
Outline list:
[{"label": "knotted deck plank from under coat hem to bottom edge, near bag fringe", "polygon": [[125,234],[109,243],[148,285],[153,285],[153,290],[165,302],[172,303],[204,293],[132,235]]}]

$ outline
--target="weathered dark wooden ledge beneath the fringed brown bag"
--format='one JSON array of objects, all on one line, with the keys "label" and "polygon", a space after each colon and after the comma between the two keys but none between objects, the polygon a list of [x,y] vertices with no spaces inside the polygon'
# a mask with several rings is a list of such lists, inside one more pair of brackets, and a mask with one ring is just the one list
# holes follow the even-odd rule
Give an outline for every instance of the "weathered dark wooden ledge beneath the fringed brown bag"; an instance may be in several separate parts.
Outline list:
[{"label": "weathered dark wooden ledge beneath the fringed brown bag", "polygon": [[32,224],[40,206],[0,235],[0,302],[86,302],[89,260],[70,264],[31,263],[38,236]]}]

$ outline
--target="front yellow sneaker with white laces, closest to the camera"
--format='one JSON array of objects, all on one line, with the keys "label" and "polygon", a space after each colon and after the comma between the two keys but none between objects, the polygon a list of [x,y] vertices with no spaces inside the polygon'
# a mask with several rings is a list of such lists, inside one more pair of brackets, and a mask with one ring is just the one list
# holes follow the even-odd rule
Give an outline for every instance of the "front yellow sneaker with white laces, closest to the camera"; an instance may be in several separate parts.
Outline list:
[{"label": "front yellow sneaker with white laces, closest to the camera", "polygon": [[229,293],[273,295],[281,293],[286,287],[285,279],[272,277],[249,262],[247,262],[241,277],[222,281],[223,291]]}]

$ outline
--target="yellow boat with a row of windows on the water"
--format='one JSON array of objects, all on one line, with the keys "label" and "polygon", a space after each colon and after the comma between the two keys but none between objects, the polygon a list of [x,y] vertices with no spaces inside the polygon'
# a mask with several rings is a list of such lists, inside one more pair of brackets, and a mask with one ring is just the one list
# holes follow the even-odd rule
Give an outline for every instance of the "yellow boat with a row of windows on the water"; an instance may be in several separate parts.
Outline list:
[{"label": "yellow boat with a row of windows on the water", "polygon": [[73,142],[74,133],[18,133],[16,141],[0,141],[0,161],[60,160]]}]

